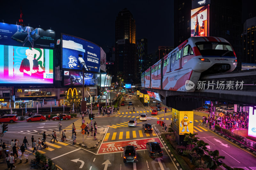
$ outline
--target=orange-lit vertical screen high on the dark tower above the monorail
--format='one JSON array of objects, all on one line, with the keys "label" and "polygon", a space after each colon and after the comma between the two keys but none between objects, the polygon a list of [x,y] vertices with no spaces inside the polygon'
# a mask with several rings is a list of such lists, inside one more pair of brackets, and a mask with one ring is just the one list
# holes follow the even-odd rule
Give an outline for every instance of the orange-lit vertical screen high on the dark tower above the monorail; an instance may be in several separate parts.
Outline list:
[{"label": "orange-lit vertical screen high on the dark tower above the monorail", "polygon": [[209,36],[209,5],[191,10],[191,37]]}]

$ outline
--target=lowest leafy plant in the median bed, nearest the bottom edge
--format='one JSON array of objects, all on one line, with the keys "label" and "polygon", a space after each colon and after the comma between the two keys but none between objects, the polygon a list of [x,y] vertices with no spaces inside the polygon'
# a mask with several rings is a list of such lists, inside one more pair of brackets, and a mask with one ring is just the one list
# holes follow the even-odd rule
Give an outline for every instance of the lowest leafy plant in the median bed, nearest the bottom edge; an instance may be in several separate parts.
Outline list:
[{"label": "lowest leafy plant in the median bed, nearest the bottom edge", "polygon": [[204,155],[204,163],[206,164],[207,168],[216,169],[218,166],[222,165],[222,160],[225,159],[225,156],[219,156],[220,153],[218,150],[209,151],[209,155]]}]

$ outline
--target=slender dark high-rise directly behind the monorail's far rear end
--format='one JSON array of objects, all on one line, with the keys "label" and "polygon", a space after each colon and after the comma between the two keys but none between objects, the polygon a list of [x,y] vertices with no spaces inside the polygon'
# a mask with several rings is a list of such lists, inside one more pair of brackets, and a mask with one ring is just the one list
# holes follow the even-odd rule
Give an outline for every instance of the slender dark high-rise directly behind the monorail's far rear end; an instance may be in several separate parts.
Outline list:
[{"label": "slender dark high-rise directly behind the monorail's far rear end", "polygon": [[148,39],[142,38],[137,40],[138,55],[139,55],[139,72],[140,75],[146,70],[146,57],[148,55]]}]

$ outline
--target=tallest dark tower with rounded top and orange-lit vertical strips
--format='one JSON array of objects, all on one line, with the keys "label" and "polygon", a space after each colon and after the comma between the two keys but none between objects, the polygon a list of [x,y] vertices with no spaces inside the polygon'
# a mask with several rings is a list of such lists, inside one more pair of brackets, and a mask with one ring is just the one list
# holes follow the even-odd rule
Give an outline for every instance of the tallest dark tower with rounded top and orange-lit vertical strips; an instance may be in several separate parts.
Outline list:
[{"label": "tallest dark tower with rounded top and orange-lit vertical strips", "polygon": [[124,8],[116,17],[115,68],[127,82],[139,81],[139,58],[136,44],[136,26],[132,13]]}]

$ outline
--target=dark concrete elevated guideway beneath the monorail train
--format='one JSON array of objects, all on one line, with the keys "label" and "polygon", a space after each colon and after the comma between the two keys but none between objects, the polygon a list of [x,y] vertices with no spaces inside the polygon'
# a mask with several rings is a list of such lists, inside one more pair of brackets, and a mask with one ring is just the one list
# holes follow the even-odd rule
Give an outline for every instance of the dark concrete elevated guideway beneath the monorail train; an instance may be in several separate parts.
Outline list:
[{"label": "dark concrete elevated guideway beneath the monorail train", "polygon": [[[208,87],[209,85],[209,87]],[[256,104],[256,69],[233,71],[202,76],[195,92],[179,92],[171,90],[149,89],[136,86],[141,90],[154,91],[164,96],[163,103],[177,109],[184,108],[184,99],[188,99],[191,106],[198,108],[202,106],[203,98],[214,100],[226,100],[230,102],[255,105]],[[196,101],[196,100],[197,101]],[[201,102],[201,103],[200,103]],[[186,102],[187,105],[188,102]],[[188,109],[187,108],[187,109]]]}]

